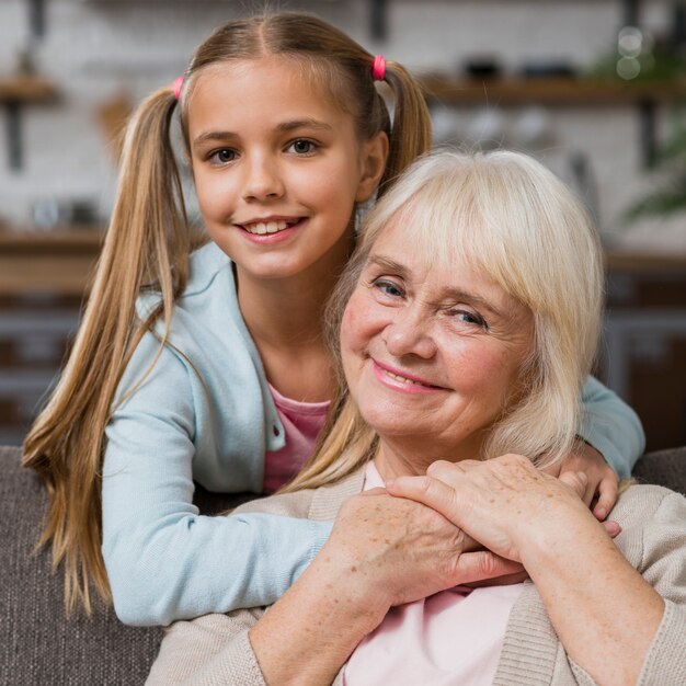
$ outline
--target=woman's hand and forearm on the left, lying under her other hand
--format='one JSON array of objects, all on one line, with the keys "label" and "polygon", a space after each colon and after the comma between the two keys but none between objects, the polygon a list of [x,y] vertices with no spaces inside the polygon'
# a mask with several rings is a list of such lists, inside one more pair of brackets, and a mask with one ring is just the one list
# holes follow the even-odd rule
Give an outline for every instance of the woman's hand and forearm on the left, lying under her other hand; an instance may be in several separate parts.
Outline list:
[{"label": "woman's hand and forearm on the left, lying under her other hand", "polygon": [[476,548],[425,505],[382,489],[350,498],[319,554],[250,631],[266,683],[329,684],[391,606],[522,571]]}]

